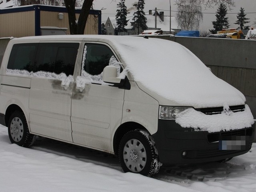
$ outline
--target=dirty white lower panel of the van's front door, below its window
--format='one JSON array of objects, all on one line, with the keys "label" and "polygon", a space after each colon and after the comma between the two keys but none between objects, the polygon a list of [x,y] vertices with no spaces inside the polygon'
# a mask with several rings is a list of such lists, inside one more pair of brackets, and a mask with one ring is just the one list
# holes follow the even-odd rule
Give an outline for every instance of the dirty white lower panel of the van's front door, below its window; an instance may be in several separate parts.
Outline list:
[{"label": "dirty white lower panel of the van's front door, below its window", "polygon": [[111,132],[121,124],[124,89],[86,84],[75,89],[72,98],[72,137],[74,143],[113,152]]}]

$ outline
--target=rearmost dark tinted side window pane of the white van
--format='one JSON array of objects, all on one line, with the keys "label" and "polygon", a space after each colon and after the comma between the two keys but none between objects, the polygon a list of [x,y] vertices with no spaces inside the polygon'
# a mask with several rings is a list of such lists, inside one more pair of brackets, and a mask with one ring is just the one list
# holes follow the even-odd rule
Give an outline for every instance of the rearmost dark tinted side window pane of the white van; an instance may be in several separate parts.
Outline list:
[{"label": "rearmost dark tinted side window pane of the white van", "polygon": [[38,43],[14,44],[9,57],[8,69],[27,70],[34,65]]}]

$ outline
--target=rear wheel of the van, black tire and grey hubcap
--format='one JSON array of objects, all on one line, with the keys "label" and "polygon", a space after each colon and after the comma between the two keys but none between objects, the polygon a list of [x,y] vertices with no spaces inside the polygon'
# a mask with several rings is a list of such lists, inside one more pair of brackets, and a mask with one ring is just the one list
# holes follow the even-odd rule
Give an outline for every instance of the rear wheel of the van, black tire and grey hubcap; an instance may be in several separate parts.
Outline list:
[{"label": "rear wheel of the van, black tire and grey hubcap", "polygon": [[8,134],[11,143],[22,147],[30,147],[36,136],[29,133],[28,124],[23,112],[14,111],[8,122]]}]

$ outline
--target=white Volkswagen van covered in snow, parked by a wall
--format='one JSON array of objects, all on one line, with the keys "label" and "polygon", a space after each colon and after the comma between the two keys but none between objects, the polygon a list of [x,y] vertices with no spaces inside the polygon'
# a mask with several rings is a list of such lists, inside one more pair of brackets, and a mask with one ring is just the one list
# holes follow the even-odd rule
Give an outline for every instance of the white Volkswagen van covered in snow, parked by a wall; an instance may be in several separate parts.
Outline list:
[{"label": "white Volkswagen van covered in snow, parked by a wall", "polygon": [[244,154],[255,131],[244,95],[192,52],[132,36],[10,40],[0,123],[20,146],[52,138],[116,154],[124,172],[146,176]]}]

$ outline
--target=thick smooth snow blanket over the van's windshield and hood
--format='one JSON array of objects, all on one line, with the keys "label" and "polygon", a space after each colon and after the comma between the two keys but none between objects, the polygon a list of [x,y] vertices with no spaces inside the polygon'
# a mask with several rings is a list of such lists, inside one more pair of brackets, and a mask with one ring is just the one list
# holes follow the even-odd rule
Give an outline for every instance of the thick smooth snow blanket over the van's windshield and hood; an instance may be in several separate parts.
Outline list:
[{"label": "thick smooth snow blanket over the van's windshield and hood", "polygon": [[184,46],[154,38],[115,41],[134,80],[181,106],[195,108],[244,104],[244,95],[217,78]]}]

